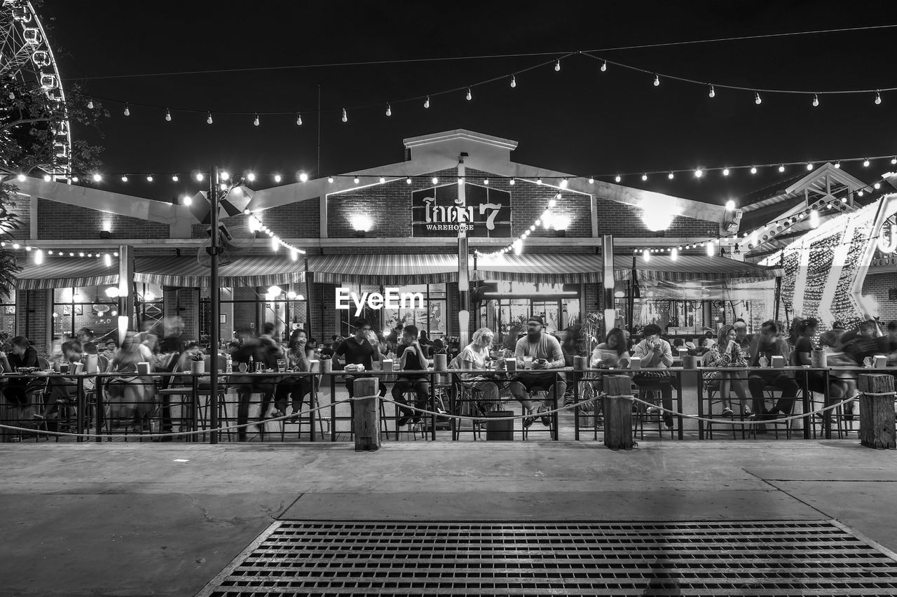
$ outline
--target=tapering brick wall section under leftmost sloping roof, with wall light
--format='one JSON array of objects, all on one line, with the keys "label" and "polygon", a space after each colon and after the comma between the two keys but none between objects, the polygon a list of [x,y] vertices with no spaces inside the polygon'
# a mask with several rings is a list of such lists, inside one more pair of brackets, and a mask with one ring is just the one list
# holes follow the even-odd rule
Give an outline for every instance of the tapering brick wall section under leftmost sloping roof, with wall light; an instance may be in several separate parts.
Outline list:
[{"label": "tapering brick wall section under leftmost sloping roof, with wall light", "polygon": [[111,223],[112,238],[169,238],[168,224],[38,199],[39,238],[100,238],[103,221]]}]

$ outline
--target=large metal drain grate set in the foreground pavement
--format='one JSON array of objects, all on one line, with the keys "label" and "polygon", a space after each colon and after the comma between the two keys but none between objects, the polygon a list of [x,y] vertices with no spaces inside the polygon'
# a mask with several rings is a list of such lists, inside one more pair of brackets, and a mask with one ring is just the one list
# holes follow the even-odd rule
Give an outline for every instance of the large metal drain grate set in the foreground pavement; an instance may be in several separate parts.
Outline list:
[{"label": "large metal drain grate set in the foreground pavement", "polygon": [[278,522],[199,593],[895,595],[892,553],[835,521]]}]

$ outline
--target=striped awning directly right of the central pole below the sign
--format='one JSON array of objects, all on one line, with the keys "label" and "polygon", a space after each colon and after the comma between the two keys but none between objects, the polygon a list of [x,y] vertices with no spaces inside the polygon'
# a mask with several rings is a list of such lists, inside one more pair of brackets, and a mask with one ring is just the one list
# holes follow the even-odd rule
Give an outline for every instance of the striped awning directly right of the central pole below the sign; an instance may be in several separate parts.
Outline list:
[{"label": "striped awning directly right of the central pole below the sign", "polygon": [[544,253],[477,257],[474,280],[579,284],[601,281],[601,255]]}]

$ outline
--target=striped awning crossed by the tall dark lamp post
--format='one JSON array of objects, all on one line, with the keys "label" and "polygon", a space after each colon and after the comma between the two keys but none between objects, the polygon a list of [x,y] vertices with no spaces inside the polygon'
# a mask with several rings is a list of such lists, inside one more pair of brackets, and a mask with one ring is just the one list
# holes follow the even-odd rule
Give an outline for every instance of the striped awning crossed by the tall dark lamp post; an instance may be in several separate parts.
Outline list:
[{"label": "striped awning crossed by the tall dark lamp post", "polygon": [[[274,286],[305,281],[302,260],[289,257],[240,257],[219,268],[220,286]],[[161,286],[199,288],[209,286],[209,268],[196,257],[138,257],[134,263],[134,281]]]}]

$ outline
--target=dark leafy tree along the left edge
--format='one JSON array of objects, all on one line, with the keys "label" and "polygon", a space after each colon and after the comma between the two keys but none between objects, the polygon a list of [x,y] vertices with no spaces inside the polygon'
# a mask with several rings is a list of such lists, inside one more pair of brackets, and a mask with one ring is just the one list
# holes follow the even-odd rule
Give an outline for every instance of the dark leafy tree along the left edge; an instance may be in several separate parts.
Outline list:
[{"label": "dark leafy tree along the left edge", "polygon": [[[20,26],[15,21],[16,4],[4,2],[0,6],[0,31]],[[42,3],[31,4],[38,10]],[[48,32],[48,23],[43,25]],[[70,173],[99,169],[101,147],[73,134],[71,152],[57,155],[57,143],[67,126],[79,132],[96,129],[101,137],[98,124],[109,116],[98,101],[92,101],[93,107],[88,108],[90,99],[76,86],[67,90],[63,101],[58,88],[47,89],[40,84],[39,71],[30,60],[10,58],[0,56],[0,241],[7,246],[17,238],[21,223],[13,211],[19,191],[16,177],[50,174],[68,178]],[[21,270],[16,254],[0,246],[0,295],[9,296],[15,274]]]}]

